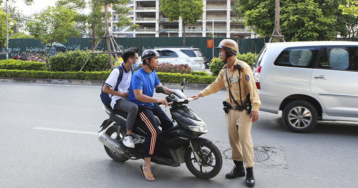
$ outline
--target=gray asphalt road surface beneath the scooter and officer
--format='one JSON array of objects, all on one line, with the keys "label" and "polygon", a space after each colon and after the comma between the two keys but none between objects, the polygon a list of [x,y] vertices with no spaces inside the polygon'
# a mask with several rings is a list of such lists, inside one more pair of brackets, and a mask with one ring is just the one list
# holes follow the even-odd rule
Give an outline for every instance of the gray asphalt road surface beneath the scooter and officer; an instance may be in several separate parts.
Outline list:
[{"label": "gray asphalt road surface beneath the scooter and officer", "polygon": [[[185,164],[153,164],[156,182],[142,178],[143,160],[118,163],[105,153],[97,139],[107,118],[99,94],[100,87],[0,83],[0,187],[246,187],[245,178],[224,178],[233,166],[221,106],[224,92],[188,105],[208,125],[203,137],[222,151],[221,172],[203,180]],[[295,134],[280,125],[279,115],[259,115],[252,138],[269,159],[256,163],[255,187],[357,186],[357,123],[319,122],[312,133]]]}]

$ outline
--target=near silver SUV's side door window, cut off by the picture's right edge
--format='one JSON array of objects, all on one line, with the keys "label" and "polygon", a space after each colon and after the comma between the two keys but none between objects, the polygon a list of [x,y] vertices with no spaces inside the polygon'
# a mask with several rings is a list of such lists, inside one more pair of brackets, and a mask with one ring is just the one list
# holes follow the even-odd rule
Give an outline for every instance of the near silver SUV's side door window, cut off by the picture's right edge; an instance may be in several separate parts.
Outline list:
[{"label": "near silver SUV's side door window, cut off by the picture's right edge", "polygon": [[358,47],[325,47],[317,68],[358,71]]}]

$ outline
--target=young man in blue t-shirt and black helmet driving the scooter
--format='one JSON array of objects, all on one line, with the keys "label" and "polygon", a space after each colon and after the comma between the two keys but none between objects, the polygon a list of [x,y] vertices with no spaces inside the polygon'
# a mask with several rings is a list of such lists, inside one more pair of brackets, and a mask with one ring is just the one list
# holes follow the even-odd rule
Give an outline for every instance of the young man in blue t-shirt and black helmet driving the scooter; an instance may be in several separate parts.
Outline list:
[{"label": "young man in blue t-shirt and black helmet driving the scooter", "polygon": [[[158,57],[159,53],[155,50],[145,50],[142,53],[143,67],[134,72],[132,76],[128,98],[129,101],[139,106],[139,120],[137,122],[147,133],[144,141],[144,164],[140,167],[144,179],[147,181],[155,180],[150,169],[150,160],[154,155],[158,136],[158,125],[154,115],[159,118],[162,130],[173,127],[173,122],[157,104],[162,103],[168,106],[168,101],[165,98],[153,97],[155,88],[163,86],[154,71],[155,68],[158,68]],[[169,88],[164,87],[164,89],[168,93],[173,93]]]}]

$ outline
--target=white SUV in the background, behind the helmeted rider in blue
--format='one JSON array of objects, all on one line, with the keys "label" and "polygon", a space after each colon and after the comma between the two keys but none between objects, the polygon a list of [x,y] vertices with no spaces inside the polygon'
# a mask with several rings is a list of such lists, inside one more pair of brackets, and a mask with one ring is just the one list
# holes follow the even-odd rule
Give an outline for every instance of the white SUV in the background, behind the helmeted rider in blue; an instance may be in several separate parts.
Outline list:
[{"label": "white SUV in the background, behind the helmeted rider in blue", "polygon": [[194,71],[203,71],[205,69],[203,54],[199,48],[186,47],[162,47],[155,48],[160,57],[160,63],[170,64],[188,64]]}]

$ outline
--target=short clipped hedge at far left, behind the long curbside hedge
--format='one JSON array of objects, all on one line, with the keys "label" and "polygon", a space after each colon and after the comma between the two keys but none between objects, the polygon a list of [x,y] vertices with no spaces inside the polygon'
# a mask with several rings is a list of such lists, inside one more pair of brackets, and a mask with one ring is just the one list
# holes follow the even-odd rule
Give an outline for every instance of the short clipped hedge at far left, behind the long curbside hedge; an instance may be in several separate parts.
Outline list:
[{"label": "short clipped hedge at far left, behind the long curbside hedge", "polygon": [[40,63],[40,62],[7,59],[7,60],[0,60],[0,69],[45,71],[46,65],[45,63]]}]

